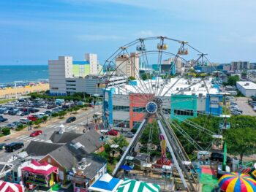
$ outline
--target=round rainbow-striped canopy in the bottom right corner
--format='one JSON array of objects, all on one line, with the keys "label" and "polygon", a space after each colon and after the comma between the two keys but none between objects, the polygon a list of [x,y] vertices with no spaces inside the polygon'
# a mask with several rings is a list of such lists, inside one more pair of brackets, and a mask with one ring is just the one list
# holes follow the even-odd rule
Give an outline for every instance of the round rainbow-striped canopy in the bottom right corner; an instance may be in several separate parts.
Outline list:
[{"label": "round rainbow-striped canopy in the bottom right corner", "polygon": [[219,179],[219,187],[226,192],[253,192],[256,191],[256,181],[246,174],[231,172]]}]

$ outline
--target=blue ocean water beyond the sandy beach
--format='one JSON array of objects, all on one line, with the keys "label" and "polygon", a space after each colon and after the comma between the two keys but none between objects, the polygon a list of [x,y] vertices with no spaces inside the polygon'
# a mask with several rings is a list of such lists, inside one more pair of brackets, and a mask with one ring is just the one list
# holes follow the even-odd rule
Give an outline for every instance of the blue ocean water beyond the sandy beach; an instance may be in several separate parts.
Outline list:
[{"label": "blue ocean water beyond the sandy beach", "polygon": [[47,65],[0,66],[0,83],[48,79]]}]

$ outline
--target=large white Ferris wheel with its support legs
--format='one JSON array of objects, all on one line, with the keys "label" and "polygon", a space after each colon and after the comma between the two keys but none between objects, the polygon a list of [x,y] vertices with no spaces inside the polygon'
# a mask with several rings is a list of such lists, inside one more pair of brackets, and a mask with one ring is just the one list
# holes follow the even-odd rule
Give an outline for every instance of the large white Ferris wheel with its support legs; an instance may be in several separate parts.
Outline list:
[{"label": "large white Ferris wheel with its support legs", "polygon": [[[211,66],[206,55],[185,41],[148,37],[119,47],[105,61],[105,75],[108,75],[103,91],[105,128],[116,129],[121,134],[136,129],[113,171],[114,176],[130,158],[135,158],[146,129],[149,130],[146,154],[156,150],[152,145],[155,126],[161,156],[154,160],[149,158],[146,165],[140,165],[144,166],[141,169],[145,172],[148,169],[163,170],[173,165],[183,188],[197,191],[197,170],[181,140],[185,139],[197,151],[209,151],[213,146],[221,150],[219,140],[222,140],[222,130],[227,127],[227,115],[222,115],[219,107],[223,94],[211,83],[218,78],[218,73],[214,77],[206,72]],[[192,121],[198,115],[206,116],[203,124]],[[223,118],[216,131],[207,128],[212,115]],[[182,125],[189,125],[211,139],[202,144]],[[193,174],[189,173],[191,171]]]}]

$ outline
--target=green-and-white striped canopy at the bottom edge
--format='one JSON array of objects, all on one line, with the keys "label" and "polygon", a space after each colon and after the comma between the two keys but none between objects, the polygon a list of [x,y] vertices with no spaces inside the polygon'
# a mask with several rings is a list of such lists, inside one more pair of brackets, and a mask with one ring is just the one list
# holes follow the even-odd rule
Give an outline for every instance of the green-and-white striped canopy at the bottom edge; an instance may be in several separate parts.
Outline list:
[{"label": "green-and-white striped canopy at the bottom edge", "polygon": [[160,187],[157,184],[152,183],[145,183],[138,180],[124,180],[124,183],[122,183],[119,187],[117,192],[159,192]]}]

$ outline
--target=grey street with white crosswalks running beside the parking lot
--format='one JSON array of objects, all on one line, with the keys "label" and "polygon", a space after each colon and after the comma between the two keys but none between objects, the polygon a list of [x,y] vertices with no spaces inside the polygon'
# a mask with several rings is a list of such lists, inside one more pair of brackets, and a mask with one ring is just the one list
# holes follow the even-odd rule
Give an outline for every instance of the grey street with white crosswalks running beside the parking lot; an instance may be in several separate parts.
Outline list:
[{"label": "grey street with white crosswalks running beside the parking lot", "polygon": [[[99,112],[100,107],[97,108],[97,112]],[[31,134],[32,131],[13,131],[12,134],[6,137],[1,137],[0,142],[4,143],[11,143],[11,142],[23,142],[24,147],[29,145],[29,142],[31,141],[38,141],[38,142],[46,142],[50,138],[51,134],[53,134],[53,131],[59,131],[59,126],[61,124],[64,125],[65,131],[75,131],[77,133],[83,133],[83,129],[86,127],[87,119],[88,123],[91,123],[93,121],[93,115],[94,115],[94,109],[89,108],[89,110],[86,111],[80,111],[78,114],[72,114],[72,115],[66,115],[64,119],[53,119],[49,120],[46,126],[43,126],[40,128],[42,130],[42,134],[37,137],[29,137],[29,134]],[[75,116],[77,119],[72,123],[66,123],[66,120],[69,116]],[[87,118],[88,117],[88,118]],[[22,149],[20,149],[22,150]],[[13,157],[13,155],[20,152],[20,150],[17,150],[13,153],[6,153],[4,150],[0,151],[0,162],[7,162],[10,161]]]}]

